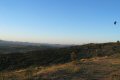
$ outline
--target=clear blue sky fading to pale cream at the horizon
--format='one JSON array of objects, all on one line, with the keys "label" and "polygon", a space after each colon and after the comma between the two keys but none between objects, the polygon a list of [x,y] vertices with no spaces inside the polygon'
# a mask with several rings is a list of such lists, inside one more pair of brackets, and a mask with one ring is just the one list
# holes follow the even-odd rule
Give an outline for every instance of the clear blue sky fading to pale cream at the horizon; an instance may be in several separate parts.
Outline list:
[{"label": "clear blue sky fading to pale cream at the horizon", "polygon": [[0,0],[0,39],[55,44],[117,41],[120,0]]}]

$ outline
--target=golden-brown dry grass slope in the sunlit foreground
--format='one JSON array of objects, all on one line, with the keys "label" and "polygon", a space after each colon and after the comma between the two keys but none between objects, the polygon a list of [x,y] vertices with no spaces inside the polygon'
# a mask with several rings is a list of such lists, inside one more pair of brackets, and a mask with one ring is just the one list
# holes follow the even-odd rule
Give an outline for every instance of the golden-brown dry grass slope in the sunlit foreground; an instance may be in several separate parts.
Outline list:
[{"label": "golden-brown dry grass slope in the sunlit foreground", "polygon": [[[120,54],[82,59],[49,67],[35,67],[1,73],[1,78],[18,80],[120,80]],[[114,78],[114,79],[113,79]],[[115,79],[119,78],[119,79]],[[0,79],[1,80],[1,79]]]}]

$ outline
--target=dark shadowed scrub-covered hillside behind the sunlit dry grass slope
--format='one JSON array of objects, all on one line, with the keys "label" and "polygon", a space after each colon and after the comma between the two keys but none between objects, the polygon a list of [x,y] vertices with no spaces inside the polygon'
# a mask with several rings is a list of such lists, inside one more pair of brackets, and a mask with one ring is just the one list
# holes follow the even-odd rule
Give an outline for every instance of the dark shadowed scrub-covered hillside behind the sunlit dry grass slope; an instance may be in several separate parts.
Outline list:
[{"label": "dark shadowed scrub-covered hillside behind the sunlit dry grass slope", "polygon": [[35,50],[25,53],[1,53],[0,70],[67,63],[71,61],[71,52],[76,52],[78,59],[110,56],[120,53],[120,43],[86,44],[66,48]]}]

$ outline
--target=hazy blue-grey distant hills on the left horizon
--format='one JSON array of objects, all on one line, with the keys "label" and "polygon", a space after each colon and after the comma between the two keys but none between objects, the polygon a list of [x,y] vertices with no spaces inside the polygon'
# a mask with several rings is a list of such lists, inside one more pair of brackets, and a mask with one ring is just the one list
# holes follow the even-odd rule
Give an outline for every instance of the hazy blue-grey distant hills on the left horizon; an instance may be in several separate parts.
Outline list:
[{"label": "hazy blue-grey distant hills on the left horizon", "polygon": [[33,50],[43,50],[48,48],[61,48],[66,45],[45,44],[45,43],[30,43],[30,42],[15,42],[0,40],[0,54],[13,52],[28,52]]}]

